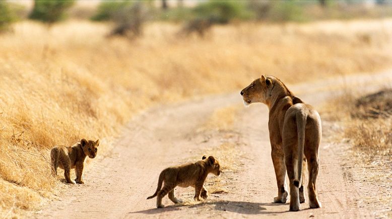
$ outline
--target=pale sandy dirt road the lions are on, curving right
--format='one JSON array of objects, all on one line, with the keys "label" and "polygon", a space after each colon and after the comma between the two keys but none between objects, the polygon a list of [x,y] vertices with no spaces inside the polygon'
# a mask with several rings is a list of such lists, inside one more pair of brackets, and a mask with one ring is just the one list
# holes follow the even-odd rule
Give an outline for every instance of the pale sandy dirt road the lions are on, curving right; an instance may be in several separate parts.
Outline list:
[{"label": "pale sandy dirt road the lions are on, curving right", "polygon": [[[356,80],[365,80],[367,76]],[[319,108],[331,96],[328,87],[341,86],[344,80],[331,79],[313,83],[311,88],[292,85],[289,88],[304,101]],[[304,94],[304,92],[309,94]],[[301,94],[302,93],[302,94]],[[288,212],[289,205],[272,203],[277,195],[268,134],[268,108],[253,104],[240,108],[233,128],[227,132],[200,131],[211,114],[223,107],[242,102],[239,91],[208,96],[175,105],[160,105],[140,114],[129,123],[114,145],[110,156],[102,156],[88,165],[84,185],[70,185],[59,199],[46,204],[36,217],[53,218],[186,218],[186,217],[363,217],[371,216],[366,207],[358,206],[361,192],[343,171],[344,156],[328,141],[320,146],[321,167],[318,195],[322,208],[309,209],[308,201],[301,211]],[[328,134],[328,125],[323,127]],[[228,135],[228,133],[231,135]],[[229,136],[229,137],[228,137]],[[174,205],[167,197],[163,209],[155,208],[156,199],[146,200],[157,186],[159,173],[167,166],[180,164],[223,141],[233,141],[241,153],[231,153],[243,166],[237,172],[223,172],[225,193],[211,194],[208,201]],[[239,155],[241,154],[241,155]],[[344,158],[343,158],[344,159]],[[224,165],[224,163],[222,163]],[[225,175],[226,174],[226,175]],[[221,177],[220,176],[220,177]],[[211,180],[215,176],[211,176]],[[306,182],[307,184],[307,182]],[[207,187],[208,188],[208,187]],[[192,189],[176,189],[177,196],[192,200]],[[307,197],[307,192],[305,197]]]}]

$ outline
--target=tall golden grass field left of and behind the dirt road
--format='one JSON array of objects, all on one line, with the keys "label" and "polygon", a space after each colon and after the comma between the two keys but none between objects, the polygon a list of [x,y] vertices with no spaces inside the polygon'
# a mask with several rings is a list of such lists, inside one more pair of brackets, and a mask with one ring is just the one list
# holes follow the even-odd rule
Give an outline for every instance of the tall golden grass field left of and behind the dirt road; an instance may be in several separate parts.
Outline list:
[{"label": "tall golden grass field left of and behind the dirt road", "polygon": [[261,73],[285,82],[370,72],[392,63],[392,21],[214,27],[177,38],[150,24],[136,41],[87,21],[24,21],[0,35],[0,216],[39,208],[59,185],[49,150],[106,140],[157,102],[240,89]]}]

